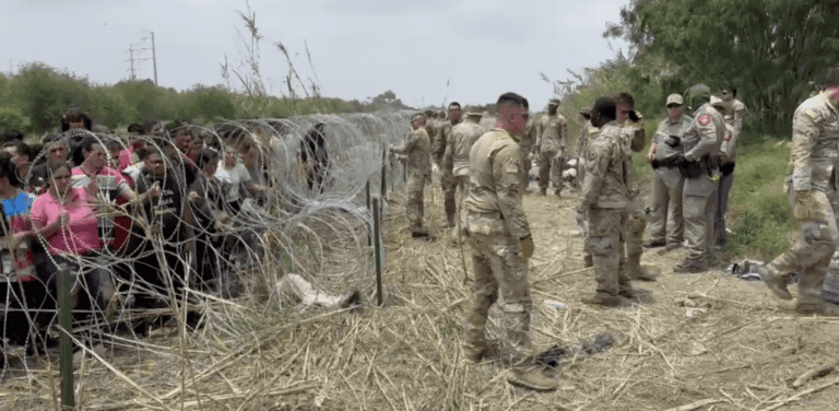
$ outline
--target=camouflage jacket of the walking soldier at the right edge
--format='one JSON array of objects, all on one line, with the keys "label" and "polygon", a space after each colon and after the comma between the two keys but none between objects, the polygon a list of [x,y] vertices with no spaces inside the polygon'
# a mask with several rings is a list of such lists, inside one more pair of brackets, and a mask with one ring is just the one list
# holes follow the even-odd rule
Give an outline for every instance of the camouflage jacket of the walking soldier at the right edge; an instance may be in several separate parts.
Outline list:
[{"label": "camouflage jacket of the walking soldier at the right edge", "polygon": [[826,92],[807,98],[792,116],[792,186],[796,191],[837,189],[839,110]]}]

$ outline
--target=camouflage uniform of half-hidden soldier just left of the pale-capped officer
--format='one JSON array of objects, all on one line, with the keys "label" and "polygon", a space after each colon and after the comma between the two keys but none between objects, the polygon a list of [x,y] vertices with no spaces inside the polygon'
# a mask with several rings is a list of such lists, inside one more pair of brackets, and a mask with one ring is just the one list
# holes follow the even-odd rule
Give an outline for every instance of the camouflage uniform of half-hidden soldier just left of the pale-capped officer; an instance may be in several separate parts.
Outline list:
[{"label": "camouflage uniform of half-hidden soldier just left of the pale-capped officer", "polygon": [[[637,111],[636,111],[637,113]],[[643,206],[636,197],[640,189],[635,179],[635,169],[633,167],[633,152],[643,150],[646,143],[646,131],[643,130],[643,117],[638,114],[638,121],[627,120],[623,126],[623,132],[617,139],[623,145],[623,152],[628,157],[629,167],[626,169],[630,176],[629,185],[629,204],[627,207],[626,221],[623,226],[623,239],[626,248],[626,268],[627,275],[631,279],[650,280],[649,274],[641,269],[641,254],[643,253],[643,231],[647,228],[647,219],[643,214]]]}]

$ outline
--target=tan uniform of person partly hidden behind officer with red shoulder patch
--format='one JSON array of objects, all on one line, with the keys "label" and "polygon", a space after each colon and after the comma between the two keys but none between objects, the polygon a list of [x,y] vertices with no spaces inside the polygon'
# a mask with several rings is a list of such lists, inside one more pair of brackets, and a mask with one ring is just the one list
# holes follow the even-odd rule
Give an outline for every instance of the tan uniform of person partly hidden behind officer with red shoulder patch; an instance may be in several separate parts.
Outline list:
[{"label": "tan uniform of person partly hidden behind officer with red shoulder patch", "polygon": [[737,152],[740,131],[743,129],[743,114],[746,111],[746,106],[738,99],[728,103],[730,104],[724,104],[725,111],[722,116],[728,130],[725,140],[720,148],[720,185],[717,191],[717,213],[713,226],[718,245],[725,244],[725,213],[729,210],[731,187],[734,185],[734,156]]}]

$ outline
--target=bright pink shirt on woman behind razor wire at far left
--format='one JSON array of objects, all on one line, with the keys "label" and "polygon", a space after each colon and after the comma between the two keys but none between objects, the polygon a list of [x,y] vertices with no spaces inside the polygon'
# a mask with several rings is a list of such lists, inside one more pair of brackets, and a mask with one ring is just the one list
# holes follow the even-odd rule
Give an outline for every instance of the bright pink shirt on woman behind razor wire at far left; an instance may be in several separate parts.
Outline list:
[{"label": "bright pink shirt on woman behind razor wire at far left", "polygon": [[70,224],[59,227],[47,237],[50,254],[82,255],[99,249],[96,213],[86,202],[87,195],[83,188],[70,188],[70,190],[73,190],[75,196],[66,204],[60,204],[50,192],[38,196],[32,204],[29,216],[42,227],[56,222],[62,211],[67,210],[70,213]]}]

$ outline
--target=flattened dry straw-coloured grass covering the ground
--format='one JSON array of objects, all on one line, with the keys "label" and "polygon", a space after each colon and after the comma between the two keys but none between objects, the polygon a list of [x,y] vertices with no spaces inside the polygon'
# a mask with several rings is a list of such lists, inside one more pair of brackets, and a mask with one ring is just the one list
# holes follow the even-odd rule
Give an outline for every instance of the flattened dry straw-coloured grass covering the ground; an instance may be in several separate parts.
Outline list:
[{"label": "flattened dry straw-coloured grass covering the ground", "polygon": [[[582,240],[571,235],[578,230],[572,193],[524,198],[536,244],[530,261],[535,347],[576,344],[605,330],[624,338],[605,353],[566,361],[560,388],[547,394],[510,386],[501,364],[465,364],[462,325],[470,286],[463,283],[460,248],[439,228],[441,192],[430,192],[426,212],[436,243],[400,230],[404,196],[390,196],[385,307],[375,307],[371,296],[362,308],[335,313],[252,301],[212,303],[211,326],[184,333],[182,341],[177,329],[163,329],[142,348],[126,341],[99,359],[87,354],[76,362],[84,409],[665,410],[702,403],[697,401],[707,406],[682,409],[839,407],[836,374],[797,390],[789,387],[807,369],[837,362],[839,319],[778,310],[760,283],[721,271],[675,275],[677,253],[647,253],[643,263],[662,275],[636,283],[642,304],[625,309],[582,304],[594,281],[582,269]],[[466,258],[468,271],[470,265]],[[545,309],[548,298],[567,308]],[[688,316],[693,308],[705,312]],[[499,334],[497,314],[491,312],[492,336]],[[237,326],[222,332],[213,326],[217,319]],[[7,376],[0,408],[55,409],[49,387],[57,387],[59,376],[57,357],[51,360],[49,366],[29,364],[28,375]],[[818,390],[806,394],[811,389]]]}]

